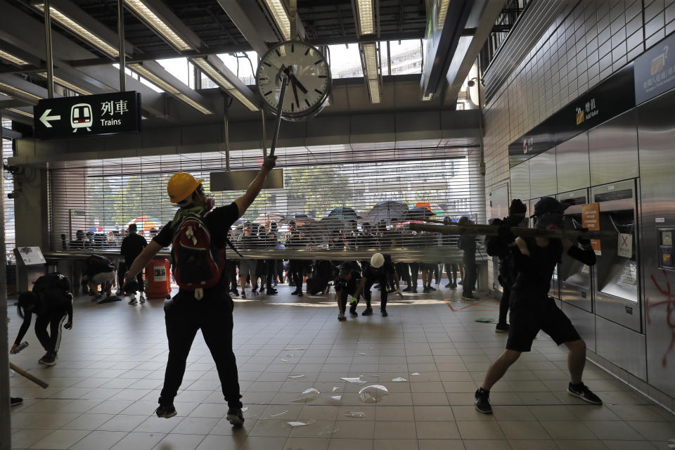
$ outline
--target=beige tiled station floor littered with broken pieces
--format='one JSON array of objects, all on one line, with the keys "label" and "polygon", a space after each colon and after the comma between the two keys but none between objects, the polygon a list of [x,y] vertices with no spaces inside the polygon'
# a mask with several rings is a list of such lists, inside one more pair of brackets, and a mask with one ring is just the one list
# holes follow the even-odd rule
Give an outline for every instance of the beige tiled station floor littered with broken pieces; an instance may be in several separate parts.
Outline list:
[{"label": "beige tiled station floor littered with broken pieces", "polygon": [[[494,325],[475,322],[496,317],[494,300],[467,304],[439,290],[394,299],[387,318],[376,309],[338,322],[333,297],[279,291],[236,301],[235,351],[248,407],[243,428],[224,420],[226,404],[200,334],[176,398],[178,416],[153,416],[167,359],[162,300],[131,307],[79,297],[56,366],[37,364],[42,352],[32,330],[30,347],[11,356],[50,385],[42,390],[11,378],[13,395],[25,397],[12,410],[13,448],[665,450],[675,439],[675,416],[592,364],[585,381],[605,405],[569,397],[565,349],[545,335],[494,387],[494,416],[477,413],[473,392],[506,341]],[[20,319],[13,308],[9,314],[13,340]],[[340,380],[359,376],[390,394],[364,403],[364,386]],[[392,382],[397,377],[407,381]],[[310,387],[318,398],[294,401]]]}]

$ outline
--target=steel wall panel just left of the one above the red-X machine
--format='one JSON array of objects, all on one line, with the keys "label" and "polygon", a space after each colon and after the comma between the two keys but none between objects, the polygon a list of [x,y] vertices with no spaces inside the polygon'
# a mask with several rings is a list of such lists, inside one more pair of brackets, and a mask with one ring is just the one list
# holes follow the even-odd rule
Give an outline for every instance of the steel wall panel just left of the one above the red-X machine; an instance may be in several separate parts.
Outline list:
[{"label": "steel wall panel just left of the one above the red-X machine", "polygon": [[589,134],[582,133],[555,148],[558,192],[591,186]]}]

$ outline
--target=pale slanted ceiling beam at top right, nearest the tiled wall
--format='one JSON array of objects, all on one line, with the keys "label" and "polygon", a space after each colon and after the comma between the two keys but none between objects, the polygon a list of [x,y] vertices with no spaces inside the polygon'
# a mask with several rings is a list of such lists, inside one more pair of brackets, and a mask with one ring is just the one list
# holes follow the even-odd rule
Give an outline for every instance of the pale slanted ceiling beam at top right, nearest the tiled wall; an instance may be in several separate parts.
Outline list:
[{"label": "pale slanted ceiling beam at top right, nearest the tiled wall", "polygon": [[[504,0],[491,0],[487,2],[480,13],[477,11],[477,17],[474,18],[472,13],[469,21],[472,22],[470,25],[475,25],[476,32],[465,49],[462,52],[456,51],[452,58],[446,74],[449,84],[445,93],[446,98],[456,101],[464,80],[469,75],[471,68],[478,59],[478,54],[492,32],[497,18],[499,18],[504,3]],[[481,89],[480,86],[478,89]]]}]

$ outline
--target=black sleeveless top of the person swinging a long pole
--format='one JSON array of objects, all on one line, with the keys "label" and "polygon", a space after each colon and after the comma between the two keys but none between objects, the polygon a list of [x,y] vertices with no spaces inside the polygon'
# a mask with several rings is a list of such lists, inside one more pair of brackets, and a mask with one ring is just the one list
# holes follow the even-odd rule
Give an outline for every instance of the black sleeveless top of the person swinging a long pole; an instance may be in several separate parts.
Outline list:
[{"label": "black sleeveless top of the person swinging a long pole", "polygon": [[553,271],[563,255],[563,244],[558,239],[549,240],[546,247],[536,245],[534,238],[526,238],[525,242],[529,256],[523,255],[517,246],[513,247],[513,262],[518,271],[511,297],[513,304],[547,297]]}]

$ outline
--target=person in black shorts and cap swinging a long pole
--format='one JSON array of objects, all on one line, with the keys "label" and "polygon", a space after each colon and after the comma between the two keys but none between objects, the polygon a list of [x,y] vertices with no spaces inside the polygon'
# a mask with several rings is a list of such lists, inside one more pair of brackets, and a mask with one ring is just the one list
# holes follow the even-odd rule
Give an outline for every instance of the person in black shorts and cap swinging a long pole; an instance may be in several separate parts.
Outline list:
[{"label": "person in black shorts and cap swinging a long pole", "polygon": [[[548,199],[560,205],[557,200]],[[564,207],[560,205],[555,207],[555,211],[541,214],[536,221],[536,228],[558,229],[563,224],[563,210]],[[579,237],[580,248],[568,239],[515,238],[508,225],[501,226],[500,233],[506,245],[515,241],[511,251],[517,276],[510,295],[511,323],[506,350],[491,364],[482,386],[475,393],[476,409],[481,413],[492,412],[489,404],[491,387],[518,360],[522,352],[529,352],[539,330],[551,336],[556,344],[564,343],[570,350],[567,367],[572,380],[567,386],[567,392],[588,403],[602,404],[602,400],[581,381],[586,364],[586,343],[579,337],[570,319],[558,309],[555,300],[548,297],[553,270],[563,252],[583,264],[591,266],[596,263],[591,241]]]}]

